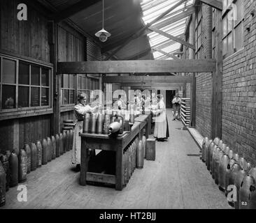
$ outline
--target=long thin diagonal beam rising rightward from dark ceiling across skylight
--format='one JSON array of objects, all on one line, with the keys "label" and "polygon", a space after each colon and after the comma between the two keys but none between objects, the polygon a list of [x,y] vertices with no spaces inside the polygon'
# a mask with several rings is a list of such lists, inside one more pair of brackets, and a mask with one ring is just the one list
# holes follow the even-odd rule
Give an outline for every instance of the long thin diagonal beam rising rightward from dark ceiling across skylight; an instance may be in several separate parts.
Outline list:
[{"label": "long thin diagonal beam rising rightward from dark ceiling across skylight", "polygon": [[118,49],[115,49],[113,52],[111,52],[111,55],[108,56],[105,60],[107,61],[108,59],[111,58],[111,56],[115,55],[117,52],[120,51],[120,49],[122,49],[122,47],[125,47],[128,43],[130,43],[131,40],[134,40],[136,38],[138,38],[139,36],[141,36],[142,33],[144,33],[144,31],[149,27],[152,26],[152,24],[154,24],[155,22],[157,22],[158,20],[161,20],[162,17],[164,17],[165,15],[167,15],[168,13],[170,13],[172,10],[174,10],[175,8],[177,8],[178,6],[180,6],[182,3],[184,3],[187,0],[180,0],[178,1],[178,3],[176,3],[173,7],[169,8],[168,10],[166,10],[164,13],[162,13],[161,15],[159,15],[157,18],[155,18],[155,20],[152,20],[152,22],[150,22],[149,24],[147,24],[146,26],[143,26],[141,29],[139,29],[138,31],[136,31],[136,33],[134,33],[132,36],[130,36],[130,38],[128,38],[120,47],[118,47]]}]

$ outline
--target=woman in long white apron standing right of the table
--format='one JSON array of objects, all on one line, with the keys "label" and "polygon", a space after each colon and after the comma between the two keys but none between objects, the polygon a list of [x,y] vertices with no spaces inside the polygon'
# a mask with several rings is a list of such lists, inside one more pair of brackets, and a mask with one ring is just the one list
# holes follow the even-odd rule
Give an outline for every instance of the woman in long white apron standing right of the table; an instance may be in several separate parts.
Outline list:
[{"label": "woman in long white apron standing right of the table", "polygon": [[157,138],[157,141],[164,141],[169,137],[169,128],[164,100],[161,95],[157,95],[157,110],[153,114],[155,114],[154,137]]}]

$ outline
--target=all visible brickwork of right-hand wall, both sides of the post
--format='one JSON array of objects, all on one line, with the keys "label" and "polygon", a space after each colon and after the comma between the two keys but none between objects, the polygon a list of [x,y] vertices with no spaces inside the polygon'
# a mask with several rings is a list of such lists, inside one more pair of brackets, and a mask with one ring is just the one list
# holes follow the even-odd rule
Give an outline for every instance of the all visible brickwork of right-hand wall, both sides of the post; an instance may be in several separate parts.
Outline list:
[{"label": "all visible brickwork of right-hand wall, both sides of the post", "polygon": [[[222,140],[235,152],[256,164],[256,1],[244,0],[244,48],[223,60]],[[211,10],[211,8],[210,8]],[[211,58],[211,15],[202,6],[201,59]],[[250,26],[250,31],[246,27]],[[211,74],[197,74],[196,128],[211,137]],[[188,92],[188,88],[187,88]]]}]

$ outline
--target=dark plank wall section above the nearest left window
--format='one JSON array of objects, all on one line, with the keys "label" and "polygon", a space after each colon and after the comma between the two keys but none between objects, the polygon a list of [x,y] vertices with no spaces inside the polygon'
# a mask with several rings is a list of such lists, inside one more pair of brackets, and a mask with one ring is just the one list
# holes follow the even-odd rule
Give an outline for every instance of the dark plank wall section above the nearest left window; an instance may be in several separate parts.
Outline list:
[{"label": "dark plank wall section above the nearest left window", "polygon": [[40,9],[27,6],[27,21],[17,20],[17,5],[20,0],[0,1],[0,49],[50,62],[48,45],[48,20]]}]

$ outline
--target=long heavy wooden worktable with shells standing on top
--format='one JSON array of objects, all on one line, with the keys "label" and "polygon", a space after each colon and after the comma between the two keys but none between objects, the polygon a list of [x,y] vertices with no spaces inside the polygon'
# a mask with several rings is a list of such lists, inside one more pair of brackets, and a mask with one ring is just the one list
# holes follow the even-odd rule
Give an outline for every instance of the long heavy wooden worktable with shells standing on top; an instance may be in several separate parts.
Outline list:
[{"label": "long heavy wooden worktable with shells standing on top", "polygon": [[[108,183],[115,185],[115,190],[122,190],[123,187],[123,151],[129,143],[145,128],[146,136],[150,131],[150,115],[141,115],[135,118],[131,132],[121,137],[111,138],[107,134],[80,133],[81,137],[81,164],[80,164],[80,185],[86,185],[86,181]],[[115,175],[98,174],[88,170],[88,149],[101,149],[104,151],[115,151]]]}]

